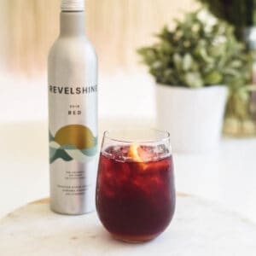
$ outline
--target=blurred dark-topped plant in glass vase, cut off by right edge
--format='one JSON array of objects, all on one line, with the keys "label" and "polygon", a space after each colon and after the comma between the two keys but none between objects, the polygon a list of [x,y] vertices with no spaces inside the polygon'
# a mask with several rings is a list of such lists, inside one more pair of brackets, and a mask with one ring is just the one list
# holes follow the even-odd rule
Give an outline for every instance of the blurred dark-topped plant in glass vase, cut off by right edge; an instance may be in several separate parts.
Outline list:
[{"label": "blurred dark-topped plant in glass vase, cut off by right edge", "polygon": [[236,37],[247,44],[250,78],[232,91],[228,100],[224,132],[229,135],[256,135],[256,1],[200,0],[213,15],[235,28]]}]

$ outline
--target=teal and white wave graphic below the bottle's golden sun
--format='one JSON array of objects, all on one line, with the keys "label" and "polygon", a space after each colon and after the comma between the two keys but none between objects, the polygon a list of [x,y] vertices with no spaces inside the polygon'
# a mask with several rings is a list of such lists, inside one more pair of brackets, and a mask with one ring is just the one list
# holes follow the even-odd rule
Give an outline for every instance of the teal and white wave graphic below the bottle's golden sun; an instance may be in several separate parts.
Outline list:
[{"label": "teal and white wave graphic below the bottle's golden sun", "polygon": [[80,149],[74,145],[60,145],[49,132],[49,163],[62,159],[64,161],[77,160],[79,163],[88,163],[97,154],[98,138],[93,137],[94,147]]}]

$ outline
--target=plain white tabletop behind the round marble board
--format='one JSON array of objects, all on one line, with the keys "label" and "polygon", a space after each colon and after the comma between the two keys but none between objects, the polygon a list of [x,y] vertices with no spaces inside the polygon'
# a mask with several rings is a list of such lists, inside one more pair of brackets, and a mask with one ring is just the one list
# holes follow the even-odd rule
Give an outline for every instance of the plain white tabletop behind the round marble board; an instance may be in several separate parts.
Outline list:
[{"label": "plain white tabletop behind the round marble board", "polygon": [[[103,130],[154,126],[152,120],[101,122]],[[0,217],[49,196],[46,121],[0,126]],[[218,151],[174,154],[177,191],[216,201],[256,223],[256,139],[224,138]]]}]

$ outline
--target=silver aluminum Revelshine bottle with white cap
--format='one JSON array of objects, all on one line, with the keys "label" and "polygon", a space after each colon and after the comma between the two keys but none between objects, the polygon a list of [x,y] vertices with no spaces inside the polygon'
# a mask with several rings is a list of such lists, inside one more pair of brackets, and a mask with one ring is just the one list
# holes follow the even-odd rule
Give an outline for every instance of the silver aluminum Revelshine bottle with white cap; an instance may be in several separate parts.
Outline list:
[{"label": "silver aluminum Revelshine bottle with white cap", "polygon": [[84,25],[84,0],[62,0],[48,60],[50,207],[70,215],[95,209],[97,58]]}]

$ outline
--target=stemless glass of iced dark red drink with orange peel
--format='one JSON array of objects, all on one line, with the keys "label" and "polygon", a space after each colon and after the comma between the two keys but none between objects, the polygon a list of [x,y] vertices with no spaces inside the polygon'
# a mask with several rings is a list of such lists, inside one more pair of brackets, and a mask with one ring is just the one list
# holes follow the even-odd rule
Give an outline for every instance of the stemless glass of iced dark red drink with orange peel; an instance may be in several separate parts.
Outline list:
[{"label": "stemless glass of iced dark red drink with orange peel", "polygon": [[121,241],[149,241],[166,230],[175,210],[168,132],[104,133],[96,210],[108,232]]}]

